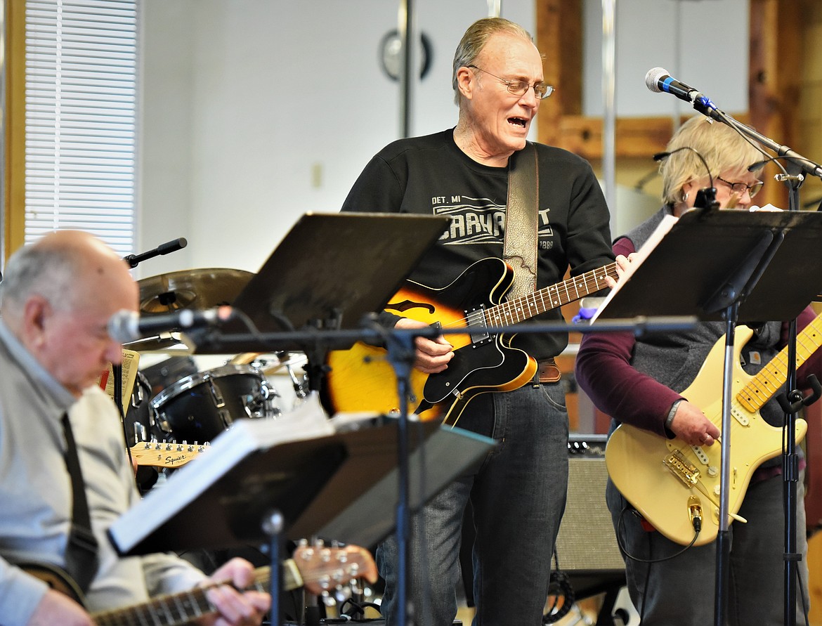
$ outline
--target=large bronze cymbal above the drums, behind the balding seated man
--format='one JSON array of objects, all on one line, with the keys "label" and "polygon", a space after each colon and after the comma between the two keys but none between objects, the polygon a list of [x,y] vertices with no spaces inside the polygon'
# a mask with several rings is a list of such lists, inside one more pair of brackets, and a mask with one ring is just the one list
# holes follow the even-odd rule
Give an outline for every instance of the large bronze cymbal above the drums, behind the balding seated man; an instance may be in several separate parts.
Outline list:
[{"label": "large bronze cymbal above the drums, behind the balding seated man", "polygon": [[137,281],[141,313],[210,309],[231,304],[251,280],[242,269],[187,269]]}]

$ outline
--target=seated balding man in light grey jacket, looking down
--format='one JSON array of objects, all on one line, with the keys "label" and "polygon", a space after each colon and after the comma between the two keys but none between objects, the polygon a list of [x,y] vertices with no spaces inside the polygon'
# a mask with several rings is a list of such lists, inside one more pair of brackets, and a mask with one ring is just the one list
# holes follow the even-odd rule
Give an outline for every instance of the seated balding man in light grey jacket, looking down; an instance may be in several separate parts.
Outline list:
[{"label": "seated balding man in light grey jacket, looking down", "polygon": [[[206,592],[214,611],[198,624],[261,624],[270,596],[237,591],[252,582],[246,561],[206,578],[173,555],[119,558],[106,537],[140,497],[117,407],[96,384],[122,357],[109,318],[137,309],[126,263],[88,233],[54,232],[12,255],[0,296],[0,624],[87,626],[92,613],[211,581],[233,586]],[[79,549],[70,439],[94,537]],[[32,563],[67,569],[85,608],[21,567]]]}]

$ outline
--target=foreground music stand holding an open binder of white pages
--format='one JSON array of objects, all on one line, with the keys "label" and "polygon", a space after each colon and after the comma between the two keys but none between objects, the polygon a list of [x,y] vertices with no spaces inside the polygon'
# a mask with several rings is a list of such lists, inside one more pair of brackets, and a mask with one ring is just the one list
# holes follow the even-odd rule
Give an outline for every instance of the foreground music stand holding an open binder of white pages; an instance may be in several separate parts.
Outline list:
[{"label": "foreground music stand holding an open binder of white pages", "polygon": [[[208,453],[118,518],[109,538],[123,556],[267,542],[271,623],[279,624],[281,536],[372,545],[393,529],[397,425],[383,416],[328,420],[318,405],[277,420],[238,420],[215,438]],[[413,489],[413,508],[494,445],[432,421],[410,428],[418,435],[413,447],[427,441],[424,472],[430,476],[425,486]]]}]

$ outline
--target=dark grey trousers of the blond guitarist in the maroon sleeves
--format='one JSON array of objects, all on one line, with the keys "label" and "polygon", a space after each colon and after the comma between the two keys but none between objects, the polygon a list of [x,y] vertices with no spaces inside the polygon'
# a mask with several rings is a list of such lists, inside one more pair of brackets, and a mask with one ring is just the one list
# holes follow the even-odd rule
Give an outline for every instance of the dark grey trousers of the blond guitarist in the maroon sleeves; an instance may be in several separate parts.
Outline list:
[{"label": "dark grey trousers of the blond guitarist in the maroon sleeves", "polygon": [[[804,474],[804,472],[801,472]],[[803,555],[797,566],[802,586],[808,585],[808,544],[805,536],[804,476],[797,485],[797,551]],[[739,514],[747,523],[729,527],[731,558],[725,608],[731,626],[782,626],[784,624],[784,536],[783,477],[772,476],[751,482]],[[617,528],[626,500],[608,481],[606,499]],[[658,532],[648,532],[635,515],[625,513],[619,523],[622,545],[640,559],[662,559],[684,546]],[[643,613],[643,626],[705,626],[713,624],[716,599],[716,541],[691,547],[683,554],[645,564],[625,559],[630,599]],[[644,607],[643,607],[644,604]],[[802,617],[797,586],[797,624]]]}]

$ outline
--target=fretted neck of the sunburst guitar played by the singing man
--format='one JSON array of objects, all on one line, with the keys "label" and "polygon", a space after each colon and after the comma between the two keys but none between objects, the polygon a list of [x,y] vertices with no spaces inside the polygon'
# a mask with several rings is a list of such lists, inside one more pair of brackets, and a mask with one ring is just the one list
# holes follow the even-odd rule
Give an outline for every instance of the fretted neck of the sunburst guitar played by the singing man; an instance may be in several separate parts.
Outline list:
[{"label": "fretted neck of the sunburst guitar played by the singing man", "polygon": [[617,264],[605,265],[590,272],[569,278],[562,283],[555,283],[548,287],[529,293],[528,296],[492,306],[485,312],[485,320],[490,326],[505,326],[530,320],[535,315],[552,311],[559,306],[579,300],[590,293],[607,288],[605,278],[610,276],[617,280]]}]

